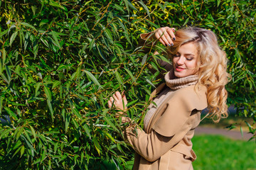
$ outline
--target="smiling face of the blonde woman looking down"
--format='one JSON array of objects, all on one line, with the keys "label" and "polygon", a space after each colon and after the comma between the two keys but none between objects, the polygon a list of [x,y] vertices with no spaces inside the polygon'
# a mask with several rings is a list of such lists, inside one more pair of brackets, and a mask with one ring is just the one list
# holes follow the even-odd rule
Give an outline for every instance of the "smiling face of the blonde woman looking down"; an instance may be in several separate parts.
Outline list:
[{"label": "smiling face of the blonde woman looking down", "polygon": [[173,57],[174,75],[188,77],[198,72],[198,51],[194,42],[188,42],[178,49]]}]

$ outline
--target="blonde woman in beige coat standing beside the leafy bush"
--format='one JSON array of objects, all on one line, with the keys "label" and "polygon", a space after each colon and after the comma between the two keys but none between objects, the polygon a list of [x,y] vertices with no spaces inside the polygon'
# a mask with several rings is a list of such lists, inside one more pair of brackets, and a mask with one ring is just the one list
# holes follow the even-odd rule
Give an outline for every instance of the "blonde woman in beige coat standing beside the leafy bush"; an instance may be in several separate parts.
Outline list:
[{"label": "blonde woman in beige coat standing beside the leafy bush", "polygon": [[[201,121],[201,111],[208,108],[213,120],[227,117],[229,74],[227,58],[220,50],[215,34],[202,28],[159,28],[154,33],[142,34],[145,40],[159,40],[167,47],[172,67],[161,84],[151,94],[154,103],[144,117],[144,130],[135,123],[126,128],[129,143],[136,151],[134,169],[193,169],[196,154],[191,138]],[[154,43],[153,43],[154,44]],[[118,91],[108,101],[123,112],[127,99]],[[130,121],[123,117],[122,121]]]}]

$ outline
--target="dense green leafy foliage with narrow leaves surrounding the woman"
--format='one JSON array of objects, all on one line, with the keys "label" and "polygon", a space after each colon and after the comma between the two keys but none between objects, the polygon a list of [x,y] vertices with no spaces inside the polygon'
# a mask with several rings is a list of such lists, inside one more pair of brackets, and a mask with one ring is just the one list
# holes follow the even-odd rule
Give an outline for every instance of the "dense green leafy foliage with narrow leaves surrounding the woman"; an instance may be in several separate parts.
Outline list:
[{"label": "dense green leafy foliage with narrow leaves surrounding the woman", "polygon": [[213,30],[233,76],[228,103],[256,120],[255,9],[233,0],[1,0],[0,111],[11,125],[0,126],[0,166],[126,169],[134,151],[107,100],[125,91],[129,117],[142,125],[161,81],[146,65],[164,58],[139,53],[137,42],[162,26]]}]

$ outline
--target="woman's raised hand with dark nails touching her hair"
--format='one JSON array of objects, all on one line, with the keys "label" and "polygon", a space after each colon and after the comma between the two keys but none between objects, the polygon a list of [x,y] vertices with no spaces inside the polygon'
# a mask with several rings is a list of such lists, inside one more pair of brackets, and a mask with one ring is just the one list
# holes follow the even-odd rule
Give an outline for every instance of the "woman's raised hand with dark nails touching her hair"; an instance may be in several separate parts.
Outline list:
[{"label": "woman's raised hand with dark nails touching her hair", "polygon": [[165,46],[167,45],[173,46],[174,45],[173,40],[176,40],[174,31],[175,31],[175,28],[169,28],[169,27],[157,28],[156,30],[154,30],[154,35],[152,35],[152,37],[159,40]]}]

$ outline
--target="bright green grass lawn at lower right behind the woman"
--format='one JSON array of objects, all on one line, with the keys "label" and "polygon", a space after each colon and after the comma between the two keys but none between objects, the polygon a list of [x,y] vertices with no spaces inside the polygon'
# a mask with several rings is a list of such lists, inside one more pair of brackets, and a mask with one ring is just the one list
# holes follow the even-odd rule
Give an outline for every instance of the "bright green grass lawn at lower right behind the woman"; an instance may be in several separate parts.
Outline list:
[{"label": "bright green grass lawn at lower right behind the woman", "polygon": [[220,135],[198,135],[192,142],[197,155],[193,162],[196,170],[256,170],[255,142],[231,140]]}]

